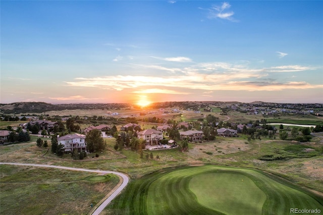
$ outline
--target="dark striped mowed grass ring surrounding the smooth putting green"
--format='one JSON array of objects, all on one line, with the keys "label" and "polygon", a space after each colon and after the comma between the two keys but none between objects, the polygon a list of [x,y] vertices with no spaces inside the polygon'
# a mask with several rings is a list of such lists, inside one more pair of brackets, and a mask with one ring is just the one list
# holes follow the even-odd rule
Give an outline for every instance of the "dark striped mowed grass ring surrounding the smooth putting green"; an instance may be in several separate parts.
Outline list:
[{"label": "dark striped mowed grass ring surrounding the smooth putting green", "polygon": [[[322,198],[276,176],[251,169],[212,165],[165,169],[163,173],[156,172],[134,180],[113,201],[109,210],[113,214],[220,214],[216,208],[212,210],[202,206],[189,189],[194,177],[209,173],[244,175],[252,180],[266,195],[262,214],[286,214],[290,212],[290,208],[318,208],[323,211]],[[205,186],[212,186],[207,180],[203,183]]]}]

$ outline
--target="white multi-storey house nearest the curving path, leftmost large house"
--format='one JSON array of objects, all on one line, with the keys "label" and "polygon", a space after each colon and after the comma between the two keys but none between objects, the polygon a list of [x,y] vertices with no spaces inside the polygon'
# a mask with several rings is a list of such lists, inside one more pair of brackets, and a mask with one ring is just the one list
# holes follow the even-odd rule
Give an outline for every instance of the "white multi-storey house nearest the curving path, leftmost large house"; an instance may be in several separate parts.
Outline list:
[{"label": "white multi-storey house nearest the curving path, leftmost large house", "polygon": [[77,149],[78,151],[86,151],[86,142],[85,135],[83,134],[68,134],[57,139],[58,144],[64,145],[65,151],[74,151]]}]

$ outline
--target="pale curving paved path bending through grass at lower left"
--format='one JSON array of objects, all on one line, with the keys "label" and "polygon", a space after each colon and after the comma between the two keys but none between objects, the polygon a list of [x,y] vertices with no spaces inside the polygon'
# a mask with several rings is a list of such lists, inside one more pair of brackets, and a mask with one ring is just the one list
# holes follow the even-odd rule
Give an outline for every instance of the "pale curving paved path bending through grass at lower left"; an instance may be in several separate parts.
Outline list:
[{"label": "pale curving paved path bending through grass at lower left", "polygon": [[121,176],[123,179],[123,182],[120,185],[120,187],[118,187],[118,189],[116,189],[115,192],[113,192],[109,197],[107,197],[107,199],[105,199],[102,202],[102,204],[100,204],[100,206],[98,206],[98,208],[96,208],[96,210],[94,210],[94,212],[92,213],[94,215],[100,214],[100,212],[102,212],[104,207],[106,207],[114,198],[116,198],[117,195],[127,186],[128,182],[129,182],[128,176],[126,176],[123,173],[118,173],[118,172],[113,172],[113,171],[87,170],[87,169],[81,169],[81,168],[62,167],[62,166],[53,166],[53,165],[39,165],[39,164],[2,163],[2,162],[0,162],[0,164],[16,165],[16,166],[48,167],[48,168],[56,168],[56,169],[64,169],[64,170],[72,170],[72,171],[83,171],[83,172],[91,172],[91,173],[115,174],[115,175]]}]

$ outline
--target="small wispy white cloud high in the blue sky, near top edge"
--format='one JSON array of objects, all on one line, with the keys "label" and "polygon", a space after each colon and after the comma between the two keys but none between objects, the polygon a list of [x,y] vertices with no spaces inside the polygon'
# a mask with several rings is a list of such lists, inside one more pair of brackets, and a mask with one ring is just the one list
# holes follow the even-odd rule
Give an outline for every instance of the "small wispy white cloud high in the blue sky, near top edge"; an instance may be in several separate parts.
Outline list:
[{"label": "small wispy white cloud high in the blue sky, near top edge", "polygon": [[228,11],[231,8],[231,5],[227,2],[222,3],[222,5],[213,5],[209,10],[207,16],[208,19],[226,19],[230,21],[237,21],[233,18],[234,12]]}]

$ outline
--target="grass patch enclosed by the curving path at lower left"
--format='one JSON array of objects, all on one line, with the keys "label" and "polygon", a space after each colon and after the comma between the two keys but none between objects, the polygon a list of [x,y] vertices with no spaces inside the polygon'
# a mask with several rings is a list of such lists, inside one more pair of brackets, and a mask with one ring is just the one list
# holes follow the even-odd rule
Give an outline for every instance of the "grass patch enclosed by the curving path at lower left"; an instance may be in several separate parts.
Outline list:
[{"label": "grass patch enclosed by the curving path at lower left", "polygon": [[0,214],[86,214],[119,182],[115,175],[1,165]]}]

